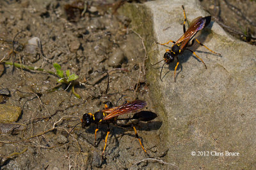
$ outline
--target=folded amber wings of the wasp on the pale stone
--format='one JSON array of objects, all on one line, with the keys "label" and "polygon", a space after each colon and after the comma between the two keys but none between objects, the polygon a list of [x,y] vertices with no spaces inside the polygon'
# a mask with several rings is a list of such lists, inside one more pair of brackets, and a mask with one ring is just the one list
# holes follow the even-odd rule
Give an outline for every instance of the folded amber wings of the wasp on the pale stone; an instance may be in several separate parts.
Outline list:
[{"label": "folded amber wings of the wasp on the pale stone", "polygon": [[198,31],[209,25],[210,22],[211,16],[195,18],[195,20],[191,22],[188,30],[176,41],[175,45],[181,44],[180,49],[183,49],[188,44],[189,40],[192,39]]}]

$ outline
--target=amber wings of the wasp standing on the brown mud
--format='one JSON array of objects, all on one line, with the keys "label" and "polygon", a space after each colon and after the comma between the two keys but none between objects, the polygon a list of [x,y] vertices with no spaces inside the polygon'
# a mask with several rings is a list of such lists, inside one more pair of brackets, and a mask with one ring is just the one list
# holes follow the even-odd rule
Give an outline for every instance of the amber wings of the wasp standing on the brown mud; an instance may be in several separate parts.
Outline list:
[{"label": "amber wings of the wasp standing on the brown mud", "polygon": [[117,106],[115,108],[108,108],[106,110],[102,110],[103,113],[108,113],[106,117],[102,118],[102,120],[109,120],[113,117],[117,117],[119,115],[124,115],[127,113],[135,113],[145,108],[147,103],[145,101],[132,101],[130,103],[123,104],[121,106]]}]

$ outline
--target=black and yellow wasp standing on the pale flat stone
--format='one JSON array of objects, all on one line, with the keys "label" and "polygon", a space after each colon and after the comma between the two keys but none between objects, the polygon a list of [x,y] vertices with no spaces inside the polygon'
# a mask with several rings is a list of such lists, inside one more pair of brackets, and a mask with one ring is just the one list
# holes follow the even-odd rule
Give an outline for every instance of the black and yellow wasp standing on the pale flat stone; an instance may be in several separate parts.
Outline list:
[{"label": "black and yellow wasp standing on the pale flat stone", "polygon": [[[160,45],[168,45],[169,43],[173,43],[172,48],[170,49],[166,49],[166,53],[164,53],[164,64],[170,64],[171,62],[173,62],[173,60],[175,58],[177,58],[177,64],[175,66],[174,69],[174,81],[175,81],[175,74],[176,74],[176,70],[177,67],[179,66],[179,58],[178,55],[182,52],[184,52],[184,50],[189,50],[190,52],[192,52],[198,59],[200,59],[202,61],[202,63],[205,66],[205,69],[207,69],[207,66],[204,63],[204,60],[202,60],[198,55],[196,55],[196,53],[193,50],[190,50],[189,48],[187,48],[188,46],[192,46],[195,41],[201,45],[204,46],[205,48],[207,48],[207,50],[209,50],[212,53],[215,53],[217,55],[220,55],[220,53],[216,53],[212,50],[210,50],[207,46],[203,45],[202,43],[200,43],[200,41],[198,41],[198,39],[195,38],[195,35],[198,31],[204,29],[204,27],[207,27],[207,25],[210,24],[211,22],[211,16],[207,16],[207,17],[197,17],[195,18],[192,22],[191,25],[188,27],[188,30],[186,31],[186,22],[188,22],[187,18],[186,18],[186,13],[185,13],[185,9],[184,6],[182,5],[182,9],[183,9],[183,13],[184,13],[184,23],[183,23],[183,32],[184,34],[177,40],[177,41],[168,41],[167,43],[158,43]],[[188,24],[189,25],[189,24]],[[192,40],[192,41],[191,41]],[[191,41],[191,44],[189,44],[189,42]],[[162,62],[163,60],[159,61]],[[156,64],[158,64],[159,62],[157,62]],[[152,66],[156,65],[153,64]],[[163,67],[164,64],[161,68],[161,73],[160,73],[160,80],[163,81],[161,79],[161,74],[163,71]]]}]

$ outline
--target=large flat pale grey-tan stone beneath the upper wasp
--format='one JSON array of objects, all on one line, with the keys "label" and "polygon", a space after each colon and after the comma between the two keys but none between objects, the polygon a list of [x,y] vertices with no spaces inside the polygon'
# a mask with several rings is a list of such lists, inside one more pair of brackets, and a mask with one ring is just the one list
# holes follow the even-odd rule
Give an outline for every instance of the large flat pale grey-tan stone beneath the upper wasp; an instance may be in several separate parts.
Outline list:
[{"label": "large flat pale grey-tan stone beneath the upper wasp", "polygon": [[124,7],[124,13],[132,18],[132,29],[143,37],[147,48],[147,79],[163,120],[159,133],[169,148],[164,161],[179,169],[255,169],[255,46],[232,38],[211,22],[198,39],[221,56],[196,42],[191,47],[207,69],[189,51],[179,55],[176,82],[176,60],[164,67],[163,81],[159,80],[163,63],[150,65],[162,60],[167,48],[156,42],[176,41],[182,36],[182,5],[189,22],[209,15],[198,1],[150,1]]}]

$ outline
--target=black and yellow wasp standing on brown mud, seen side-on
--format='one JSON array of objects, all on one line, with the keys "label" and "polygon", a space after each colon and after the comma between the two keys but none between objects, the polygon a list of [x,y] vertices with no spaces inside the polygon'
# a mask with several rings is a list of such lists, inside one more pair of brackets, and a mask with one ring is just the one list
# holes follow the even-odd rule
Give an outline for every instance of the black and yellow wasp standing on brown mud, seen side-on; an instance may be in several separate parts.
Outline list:
[{"label": "black and yellow wasp standing on brown mud, seen side-on", "polygon": [[[92,123],[96,124],[95,144],[96,144],[97,131],[99,131],[98,124],[107,124],[108,125],[108,132],[107,132],[107,135],[105,138],[105,145],[104,145],[104,149],[102,151],[102,157],[104,155],[104,151],[106,150],[108,135],[110,133],[109,124],[114,124],[114,125],[117,125],[118,127],[132,127],[132,129],[134,129],[136,138],[138,138],[138,140],[140,142],[141,148],[144,150],[145,153],[147,153],[147,151],[145,150],[144,146],[141,143],[141,140],[138,136],[136,128],[134,127],[133,124],[120,125],[120,124],[116,123],[118,120],[134,120],[135,119],[135,120],[140,120],[143,122],[148,122],[150,120],[153,120],[154,118],[157,117],[156,113],[153,113],[151,111],[141,111],[143,108],[145,108],[146,105],[147,105],[147,103],[145,101],[140,101],[140,100],[125,103],[125,104],[122,104],[121,106],[116,106],[113,108],[111,108],[111,106],[108,106],[108,104],[105,104],[104,110],[97,111],[94,114],[85,113],[83,115],[83,118],[81,120],[82,127],[88,127]],[[135,114],[133,115],[132,118],[118,118],[118,116],[120,116],[120,115],[129,114],[129,113],[135,113]]]}]

